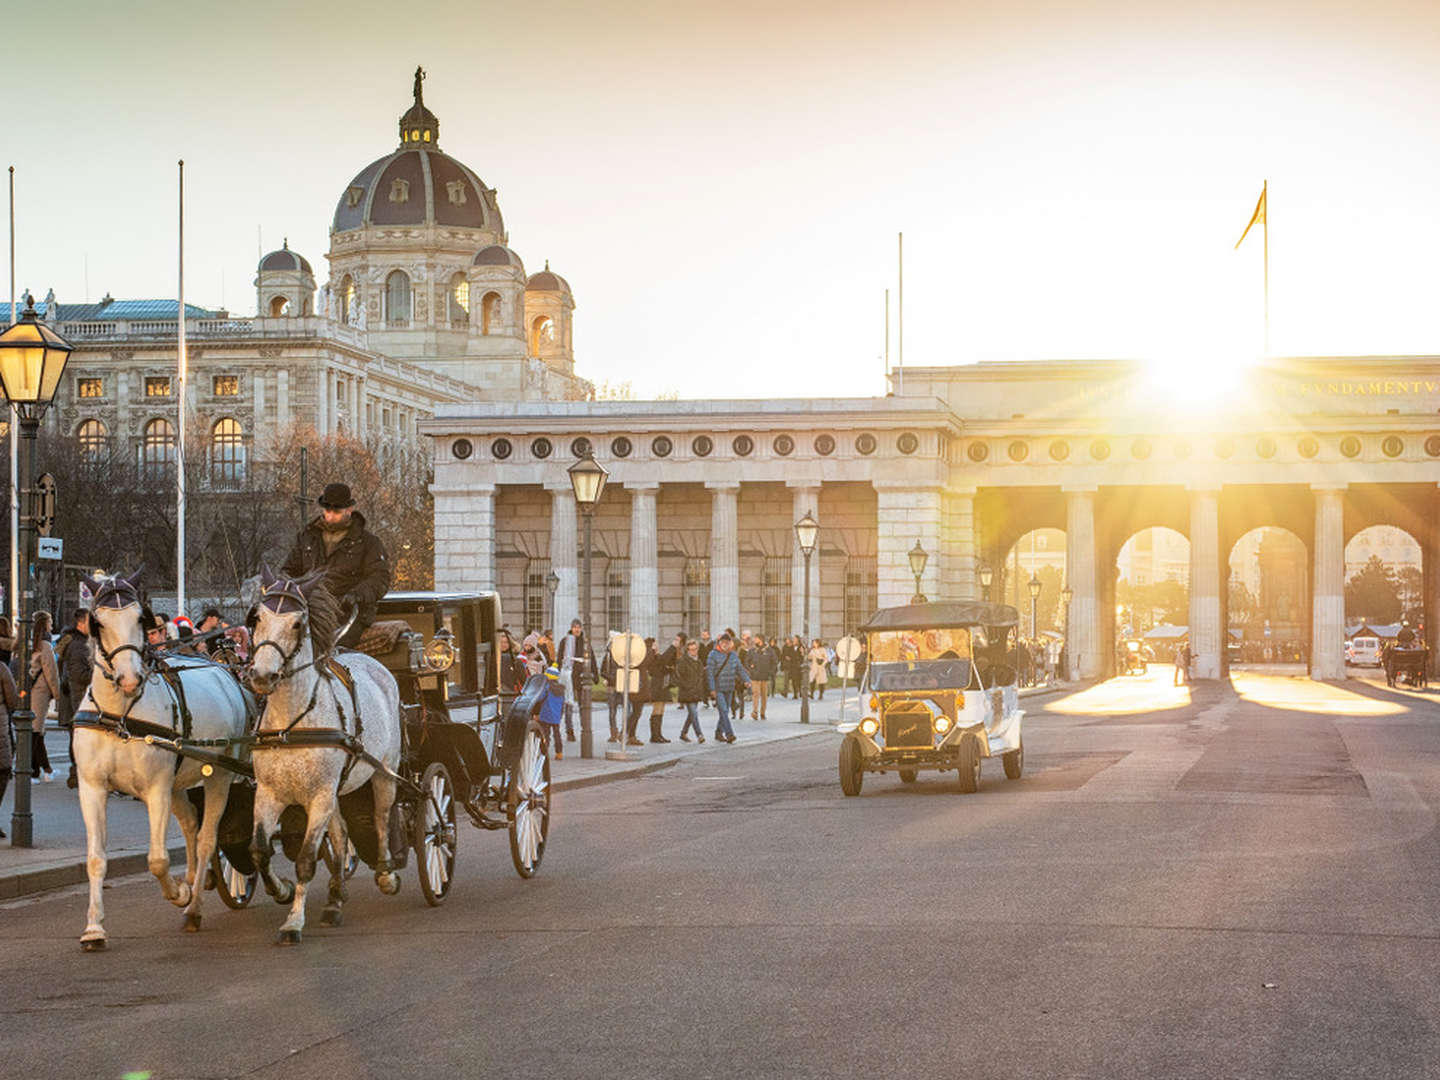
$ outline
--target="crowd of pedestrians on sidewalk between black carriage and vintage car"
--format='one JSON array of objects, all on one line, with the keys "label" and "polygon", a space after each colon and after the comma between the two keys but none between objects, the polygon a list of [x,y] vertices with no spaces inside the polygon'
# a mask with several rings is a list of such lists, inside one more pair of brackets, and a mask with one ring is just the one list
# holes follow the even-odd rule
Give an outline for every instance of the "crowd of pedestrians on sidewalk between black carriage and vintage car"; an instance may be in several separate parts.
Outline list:
[{"label": "crowd of pedestrians on sidewalk between black carriage and vintage car", "polygon": [[[612,634],[613,639],[616,635]],[[631,685],[625,687],[622,668],[609,648],[596,664],[576,619],[559,644],[549,629],[531,631],[518,641],[508,629],[500,632],[500,680],[507,693],[516,693],[531,675],[544,674],[552,694],[541,708],[541,720],[553,733],[554,756],[564,756],[564,743],[575,742],[576,703],[585,674],[605,688],[609,706],[609,742],[642,746],[639,724],[648,710],[649,742],[668,743],[664,733],[670,706],[684,710],[681,742],[706,742],[700,710],[714,708],[713,736],[717,742],[736,740],[733,720],[746,710],[752,720],[768,719],[772,697],[799,698],[806,694],[824,698],[835,672],[835,649],[819,638],[809,645],[799,635],[783,641],[768,639],[750,631],[723,631],[711,638],[701,631],[690,638],[677,634],[661,651],[655,638],[645,638],[645,655],[635,665]],[[586,668],[589,671],[586,672]],[[855,678],[864,672],[864,657],[857,662]],[[628,706],[628,707],[626,707]],[[563,732],[563,734],[562,734]]]}]

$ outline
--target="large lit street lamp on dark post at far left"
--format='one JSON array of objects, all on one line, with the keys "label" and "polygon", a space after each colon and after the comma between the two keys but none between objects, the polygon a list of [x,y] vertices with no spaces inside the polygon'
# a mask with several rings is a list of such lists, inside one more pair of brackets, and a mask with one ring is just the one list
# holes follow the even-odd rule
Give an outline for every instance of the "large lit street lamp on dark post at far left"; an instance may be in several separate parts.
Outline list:
[{"label": "large lit street lamp on dark post at far left", "polygon": [[[13,312],[12,312],[13,314]],[[30,484],[30,469],[35,461],[35,439],[40,431],[40,418],[55,400],[55,392],[60,386],[60,376],[65,374],[65,361],[71,359],[72,346],[63,337],[45,325],[35,314],[35,298],[26,295],[24,312],[20,321],[10,325],[0,334],[0,390],[4,399],[14,409],[20,419],[19,446],[19,477],[20,482]],[[29,487],[26,495],[33,497]],[[32,507],[22,503],[26,511],[22,514],[20,536],[12,543],[20,544],[19,566],[20,580],[13,582],[16,593],[16,648],[24,649],[30,639],[30,613],[26,611],[26,598],[30,592],[30,533],[35,528]],[[29,524],[26,524],[29,521]],[[20,708],[12,713],[16,732],[24,733],[16,747],[14,763],[14,812],[10,816],[10,847],[33,847],[33,816],[30,814],[30,721],[35,714],[29,704],[30,665],[24,662],[26,651],[22,651],[20,662]],[[43,724],[43,719],[42,719]],[[43,736],[42,736],[43,737]]]}]

